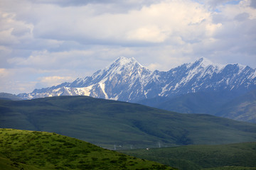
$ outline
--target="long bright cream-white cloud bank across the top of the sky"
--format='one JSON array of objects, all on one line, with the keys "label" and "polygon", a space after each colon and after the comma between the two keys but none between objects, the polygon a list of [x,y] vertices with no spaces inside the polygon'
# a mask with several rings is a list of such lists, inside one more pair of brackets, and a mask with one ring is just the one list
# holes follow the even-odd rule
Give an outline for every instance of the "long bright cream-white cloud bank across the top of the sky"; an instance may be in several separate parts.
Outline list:
[{"label": "long bright cream-white cloud bank across the top of the sky", "polygon": [[187,40],[196,36],[200,39],[208,34],[209,26],[215,25],[203,5],[190,1],[164,1],[128,13],[99,15],[94,13],[96,7],[93,4],[67,8],[47,5],[43,10],[48,13],[35,25],[34,33],[37,38],[85,44],[139,45],[141,41],[164,42],[176,35]]}]

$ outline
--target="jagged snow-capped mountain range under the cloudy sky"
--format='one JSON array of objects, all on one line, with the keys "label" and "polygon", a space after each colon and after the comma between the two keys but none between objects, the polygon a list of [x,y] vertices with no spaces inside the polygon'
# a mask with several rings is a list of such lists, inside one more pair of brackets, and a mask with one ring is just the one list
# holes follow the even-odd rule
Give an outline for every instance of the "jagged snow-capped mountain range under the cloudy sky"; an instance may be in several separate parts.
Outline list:
[{"label": "jagged snow-capped mountain range under the cloudy sky", "polygon": [[168,72],[151,72],[134,58],[119,57],[91,77],[78,78],[22,98],[92,96],[119,101],[139,101],[156,96],[175,96],[197,91],[248,91],[256,89],[256,70],[240,64],[214,64],[206,58],[182,64]]}]

